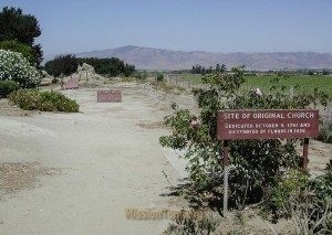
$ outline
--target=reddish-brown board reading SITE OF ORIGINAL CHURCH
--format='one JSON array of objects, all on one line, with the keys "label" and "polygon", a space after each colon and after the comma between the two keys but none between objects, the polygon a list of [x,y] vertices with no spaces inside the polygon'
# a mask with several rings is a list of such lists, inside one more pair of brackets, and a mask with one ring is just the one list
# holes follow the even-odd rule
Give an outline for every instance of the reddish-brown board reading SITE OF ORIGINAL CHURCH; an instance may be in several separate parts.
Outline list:
[{"label": "reddish-brown board reading SITE OF ORIGINAL CHURCH", "polygon": [[276,139],[319,136],[319,110],[220,110],[217,138]]}]

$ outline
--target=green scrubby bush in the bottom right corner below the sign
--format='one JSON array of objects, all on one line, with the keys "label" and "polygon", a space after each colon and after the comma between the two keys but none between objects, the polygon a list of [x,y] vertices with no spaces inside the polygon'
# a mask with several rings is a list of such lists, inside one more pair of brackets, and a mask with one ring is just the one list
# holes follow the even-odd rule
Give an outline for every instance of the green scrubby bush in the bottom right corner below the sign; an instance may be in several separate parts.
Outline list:
[{"label": "green scrubby bush in the bottom right corner below the sign", "polygon": [[332,164],[312,179],[291,170],[278,180],[269,200],[280,215],[291,218],[298,234],[331,234]]}]

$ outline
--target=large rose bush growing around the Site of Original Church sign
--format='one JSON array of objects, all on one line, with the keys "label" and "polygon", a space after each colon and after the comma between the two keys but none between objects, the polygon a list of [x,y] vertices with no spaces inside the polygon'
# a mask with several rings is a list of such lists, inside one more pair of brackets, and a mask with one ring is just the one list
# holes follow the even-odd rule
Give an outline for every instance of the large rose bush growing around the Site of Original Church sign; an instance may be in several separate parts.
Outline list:
[{"label": "large rose bush growing around the Site of Original Church sign", "polygon": [[[187,170],[197,190],[214,189],[222,182],[224,141],[217,139],[217,111],[222,109],[302,109],[311,104],[301,94],[292,99],[278,86],[279,73],[271,82],[272,95],[255,92],[241,93],[245,83],[243,67],[231,73],[205,76],[205,88],[195,89],[199,115],[172,105],[174,113],[166,116],[165,125],[173,129],[170,136],[160,137],[163,147],[186,150]],[[195,122],[195,125],[194,125]],[[297,152],[297,139],[234,140],[229,143],[230,205],[243,207],[246,203],[260,202],[263,185],[276,185],[276,178],[284,169],[298,169],[303,160]]]}]

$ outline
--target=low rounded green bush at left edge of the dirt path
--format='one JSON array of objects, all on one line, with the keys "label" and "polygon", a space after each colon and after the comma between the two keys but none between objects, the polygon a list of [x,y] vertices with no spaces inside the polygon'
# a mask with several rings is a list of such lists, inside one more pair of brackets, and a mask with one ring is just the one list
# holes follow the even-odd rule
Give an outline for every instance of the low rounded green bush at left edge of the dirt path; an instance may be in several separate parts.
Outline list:
[{"label": "low rounded green bush at left edge of the dirt path", "polygon": [[19,89],[9,95],[9,100],[24,110],[77,113],[80,107],[75,100],[53,90]]}]

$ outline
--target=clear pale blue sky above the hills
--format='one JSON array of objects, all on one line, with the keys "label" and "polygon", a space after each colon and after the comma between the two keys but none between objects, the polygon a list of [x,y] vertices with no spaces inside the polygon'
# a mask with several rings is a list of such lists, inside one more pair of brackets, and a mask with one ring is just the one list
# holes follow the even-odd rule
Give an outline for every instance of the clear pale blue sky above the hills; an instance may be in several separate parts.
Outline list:
[{"label": "clear pale blue sky above the hills", "polygon": [[34,15],[45,55],[124,45],[332,53],[331,0],[0,0]]}]

